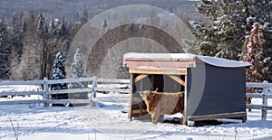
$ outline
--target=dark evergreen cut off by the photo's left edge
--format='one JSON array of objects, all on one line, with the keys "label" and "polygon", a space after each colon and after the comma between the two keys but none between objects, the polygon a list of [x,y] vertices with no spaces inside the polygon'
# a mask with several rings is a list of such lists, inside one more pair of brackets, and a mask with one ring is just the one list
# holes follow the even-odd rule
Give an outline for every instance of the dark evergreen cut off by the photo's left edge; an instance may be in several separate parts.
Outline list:
[{"label": "dark evergreen cut off by the photo's left edge", "polygon": [[6,24],[0,20],[0,79],[10,76],[11,51]]}]

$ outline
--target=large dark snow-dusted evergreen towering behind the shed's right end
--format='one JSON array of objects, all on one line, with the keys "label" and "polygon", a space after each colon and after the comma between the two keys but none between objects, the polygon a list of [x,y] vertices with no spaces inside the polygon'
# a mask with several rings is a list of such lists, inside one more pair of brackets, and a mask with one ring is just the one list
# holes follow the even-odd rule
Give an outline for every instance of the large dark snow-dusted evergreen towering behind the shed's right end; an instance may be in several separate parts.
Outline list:
[{"label": "large dark snow-dusted evergreen towering behind the shed's right end", "polygon": [[271,5],[270,0],[201,0],[196,8],[209,21],[191,24],[202,54],[238,60],[252,23],[267,23],[271,28]]}]

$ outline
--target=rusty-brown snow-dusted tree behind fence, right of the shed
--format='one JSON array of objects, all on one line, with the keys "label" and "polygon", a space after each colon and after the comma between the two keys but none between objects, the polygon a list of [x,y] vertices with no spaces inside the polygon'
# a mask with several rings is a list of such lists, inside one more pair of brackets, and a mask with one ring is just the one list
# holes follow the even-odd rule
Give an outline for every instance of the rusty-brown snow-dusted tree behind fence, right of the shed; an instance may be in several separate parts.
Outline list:
[{"label": "rusty-brown snow-dusted tree behind fence, right of the shed", "polygon": [[258,23],[252,25],[250,35],[246,36],[245,40],[247,53],[243,55],[242,61],[252,64],[247,69],[247,81],[262,82],[266,79],[264,73],[266,73],[268,68],[264,68],[266,62],[263,54],[264,39]]}]

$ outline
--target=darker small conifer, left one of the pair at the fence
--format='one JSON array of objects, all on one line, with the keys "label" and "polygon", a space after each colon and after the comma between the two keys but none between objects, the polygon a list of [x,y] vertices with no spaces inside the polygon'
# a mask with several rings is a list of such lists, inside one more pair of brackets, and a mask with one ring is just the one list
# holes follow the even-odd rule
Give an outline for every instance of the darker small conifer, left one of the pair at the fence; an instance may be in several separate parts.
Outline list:
[{"label": "darker small conifer, left one of the pair at the fence", "polygon": [[[66,73],[65,73],[65,65],[63,61],[63,53],[58,52],[55,55],[55,60],[53,63],[53,75],[52,79],[65,79]],[[67,85],[65,83],[59,83],[59,84],[53,84],[51,86],[52,90],[61,90],[61,89],[67,89]],[[68,94],[53,94],[53,99],[67,99]]]}]

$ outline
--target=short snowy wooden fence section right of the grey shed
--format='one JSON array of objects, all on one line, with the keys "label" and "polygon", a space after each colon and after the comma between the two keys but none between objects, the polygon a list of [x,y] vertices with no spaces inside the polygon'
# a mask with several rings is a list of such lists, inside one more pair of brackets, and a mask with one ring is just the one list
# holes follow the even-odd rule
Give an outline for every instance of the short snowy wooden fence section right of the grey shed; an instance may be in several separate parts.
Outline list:
[{"label": "short snowy wooden fence section right of the grey shed", "polygon": [[247,104],[247,108],[261,109],[262,119],[267,119],[267,110],[272,110],[272,107],[267,105],[267,99],[272,98],[272,92],[269,91],[272,88],[272,83],[268,83],[266,80],[262,83],[247,82],[247,88],[262,89],[261,93],[254,92],[246,94],[247,98],[262,98],[262,105]]}]

